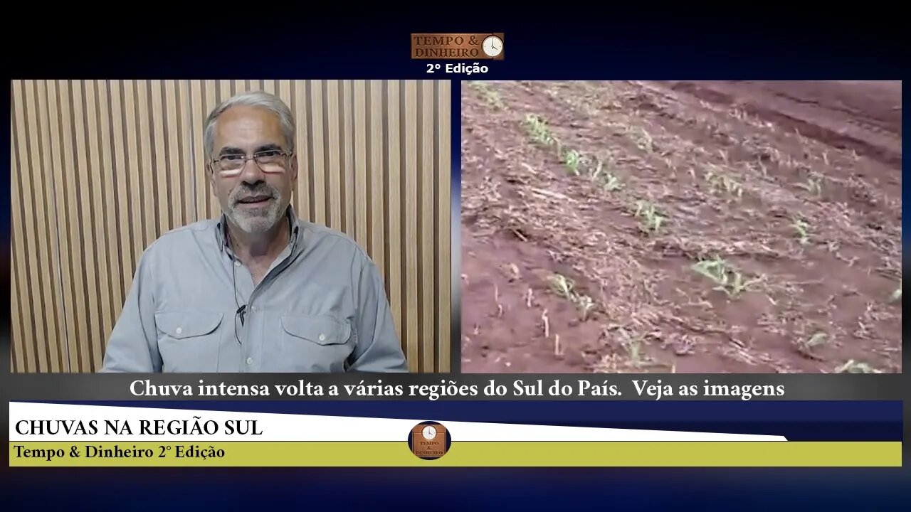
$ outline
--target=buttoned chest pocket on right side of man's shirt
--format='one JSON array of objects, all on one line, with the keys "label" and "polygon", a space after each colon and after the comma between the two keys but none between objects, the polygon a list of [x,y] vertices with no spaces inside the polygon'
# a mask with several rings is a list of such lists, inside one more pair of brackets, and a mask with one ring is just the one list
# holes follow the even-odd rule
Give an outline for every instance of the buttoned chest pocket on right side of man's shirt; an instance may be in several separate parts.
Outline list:
[{"label": "buttoned chest pocket on right side of man's shirt", "polygon": [[281,370],[343,372],[353,352],[352,327],[326,314],[281,315]]}]

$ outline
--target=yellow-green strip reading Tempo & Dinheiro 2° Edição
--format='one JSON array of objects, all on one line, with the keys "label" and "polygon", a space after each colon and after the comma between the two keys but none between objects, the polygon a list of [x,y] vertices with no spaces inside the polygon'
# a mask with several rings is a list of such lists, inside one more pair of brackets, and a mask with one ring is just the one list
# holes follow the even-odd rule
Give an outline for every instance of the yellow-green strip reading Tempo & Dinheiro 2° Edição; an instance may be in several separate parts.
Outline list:
[{"label": "yellow-green strip reading Tempo & Dinheiro 2\u00b0 Edi\u00e7\u00e3o", "polygon": [[889,442],[9,442],[10,466],[901,466]]}]

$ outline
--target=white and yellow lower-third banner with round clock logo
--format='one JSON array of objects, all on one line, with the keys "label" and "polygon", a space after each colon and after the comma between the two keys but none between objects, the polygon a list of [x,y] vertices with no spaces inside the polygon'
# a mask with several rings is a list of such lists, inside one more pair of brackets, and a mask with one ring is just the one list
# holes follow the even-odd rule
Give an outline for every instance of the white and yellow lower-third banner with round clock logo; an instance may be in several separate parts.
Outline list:
[{"label": "white and yellow lower-third banner with round clock logo", "polygon": [[10,466],[901,466],[899,441],[10,403]]}]

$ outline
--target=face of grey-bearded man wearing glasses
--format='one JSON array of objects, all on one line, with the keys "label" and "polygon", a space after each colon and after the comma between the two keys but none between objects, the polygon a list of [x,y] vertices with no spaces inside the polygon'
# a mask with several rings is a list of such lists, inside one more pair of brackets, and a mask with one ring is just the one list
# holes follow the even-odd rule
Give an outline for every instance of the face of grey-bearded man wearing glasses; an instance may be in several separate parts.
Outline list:
[{"label": "face of grey-bearded man wearing glasses", "polygon": [[[276,156],[287,149],[278,116],[265,108],[237,106],[219,117],[212,159],[229,159],[210,164],[212,194],[236,227],[263,233],[281,220],[297,182],[297,157]],[[254,154],[261,163],[249,159],[239,167]]]}]

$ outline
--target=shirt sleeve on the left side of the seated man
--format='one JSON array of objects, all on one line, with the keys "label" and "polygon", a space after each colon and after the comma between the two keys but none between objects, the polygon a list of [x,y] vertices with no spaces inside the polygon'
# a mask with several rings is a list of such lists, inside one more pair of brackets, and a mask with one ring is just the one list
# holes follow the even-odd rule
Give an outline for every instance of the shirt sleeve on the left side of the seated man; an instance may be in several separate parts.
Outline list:
[{"label": "shirt sleeve on the left side of the seated man", "polygon": [[155,326],[154,284],[148,251],[139,259],[123,311],[107,340],[102,373],[159,373],[161,354]]}]

